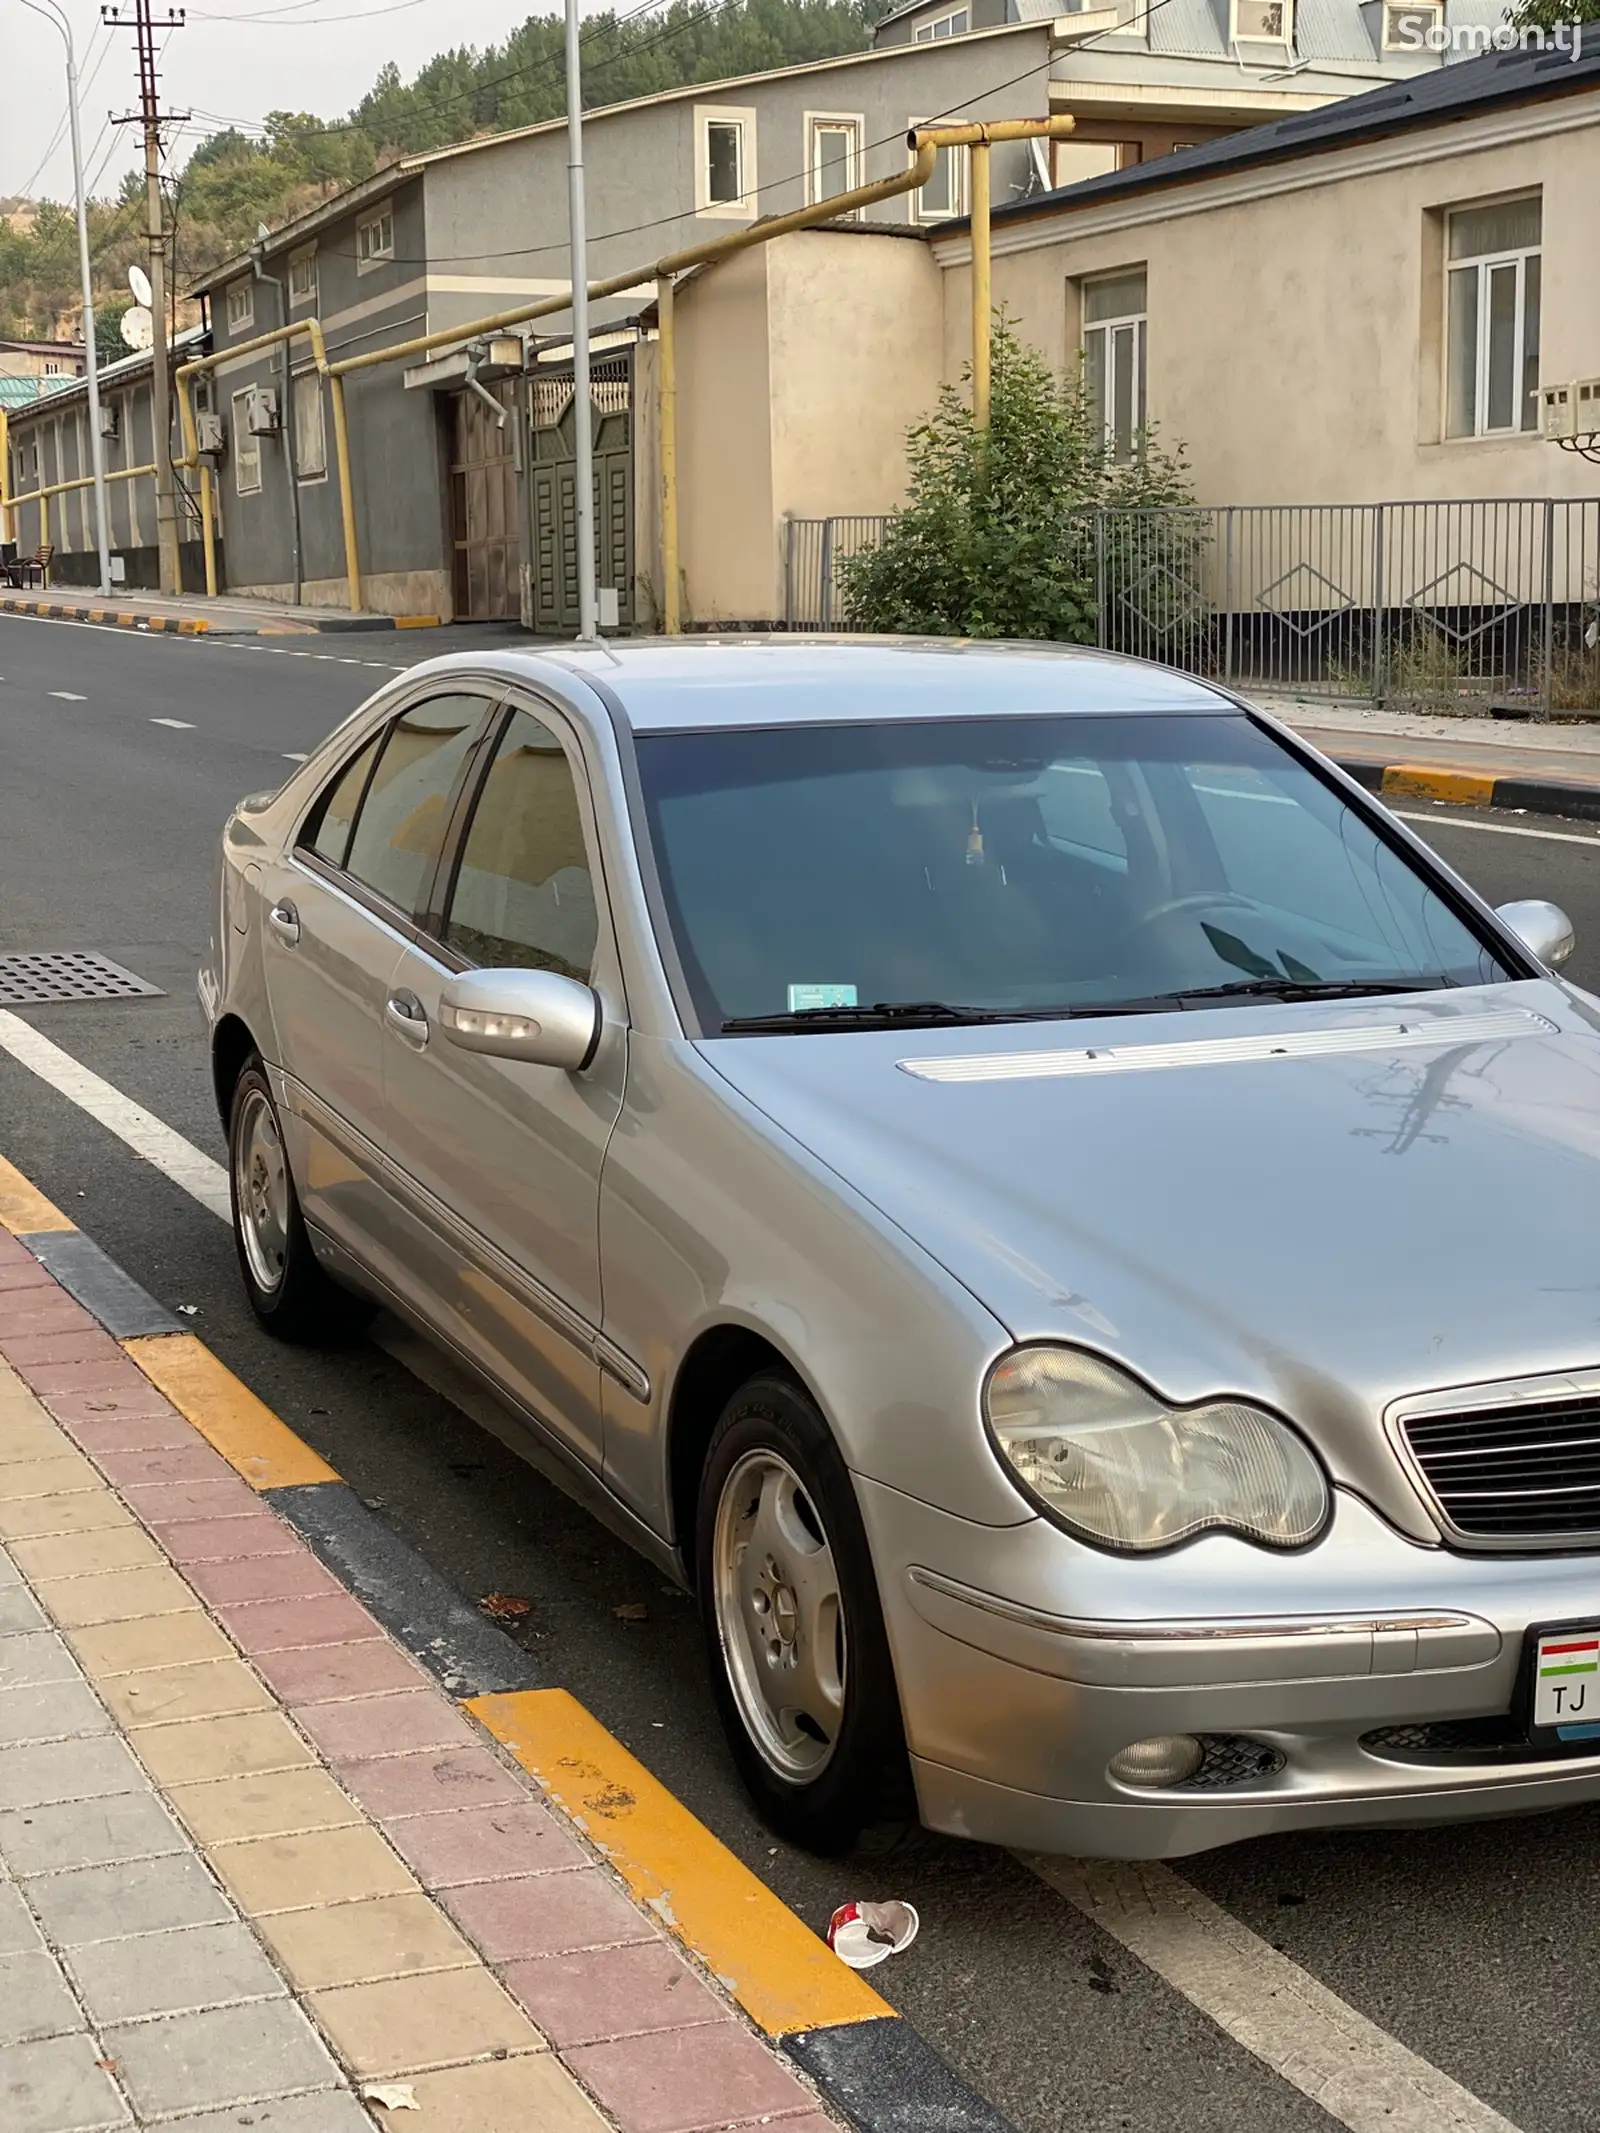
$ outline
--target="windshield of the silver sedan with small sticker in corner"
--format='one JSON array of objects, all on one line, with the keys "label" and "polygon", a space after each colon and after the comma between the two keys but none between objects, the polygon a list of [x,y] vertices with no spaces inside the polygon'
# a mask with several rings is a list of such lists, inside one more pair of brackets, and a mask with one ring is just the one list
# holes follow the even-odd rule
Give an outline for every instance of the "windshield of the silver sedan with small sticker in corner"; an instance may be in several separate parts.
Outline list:
[{"label": "windshield of the silver sedan with small sticker in corner", "polygon": [[1244,715],[642,734],[638,761],[706,1032],[1510,975]]}]

